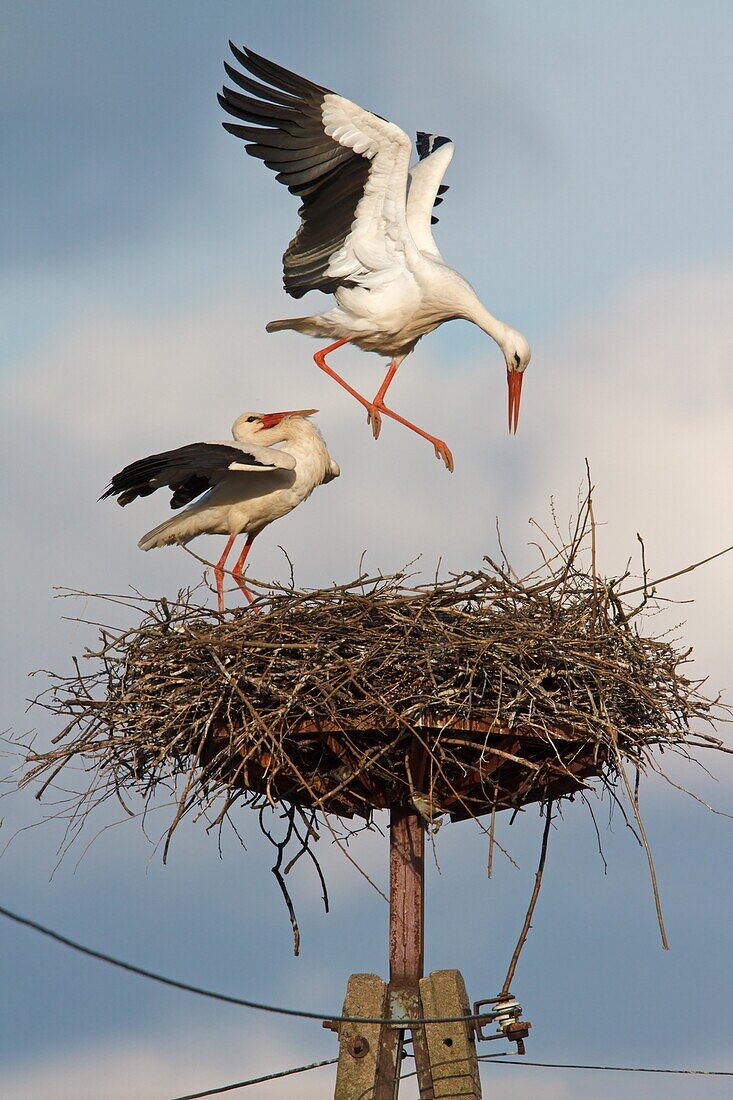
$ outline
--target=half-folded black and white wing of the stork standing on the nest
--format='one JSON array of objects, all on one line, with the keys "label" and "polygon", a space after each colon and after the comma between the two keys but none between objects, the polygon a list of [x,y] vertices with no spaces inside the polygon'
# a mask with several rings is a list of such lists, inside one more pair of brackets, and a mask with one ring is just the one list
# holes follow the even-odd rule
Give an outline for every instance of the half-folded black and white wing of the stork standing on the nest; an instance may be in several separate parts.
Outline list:
[{"label": "half-folded black and white wing of the stork standing on the nest", "polygon": [[188,443],[131,462],[114,474],[100,501],[116,496],[118,504],[124,507],[136,497],[150,496],[167,485],[173,493],[171,507],[183,508],[231,473],[261,474],[294,469],[292,454],[270,447],[236,442]]}]

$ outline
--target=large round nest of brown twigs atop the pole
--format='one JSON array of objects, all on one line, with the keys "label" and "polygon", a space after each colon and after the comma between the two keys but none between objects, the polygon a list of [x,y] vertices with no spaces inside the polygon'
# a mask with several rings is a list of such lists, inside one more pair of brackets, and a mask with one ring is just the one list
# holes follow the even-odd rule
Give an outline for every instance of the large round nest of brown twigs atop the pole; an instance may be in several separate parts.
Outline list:
[{"label": "large round nest of brown twigs atop the pole", "polygon": [[85,807],[166,784],[172,827],[237,803],[461,820],[614,787],[658,747],[720,745],[689,653],[644,636],[570,550],[524,580],[489,562],[422,586],[250,583],[260,614],[123,600],[132,628],[102,628],[41,697],[65,724],[26,780],[80,765]]}]

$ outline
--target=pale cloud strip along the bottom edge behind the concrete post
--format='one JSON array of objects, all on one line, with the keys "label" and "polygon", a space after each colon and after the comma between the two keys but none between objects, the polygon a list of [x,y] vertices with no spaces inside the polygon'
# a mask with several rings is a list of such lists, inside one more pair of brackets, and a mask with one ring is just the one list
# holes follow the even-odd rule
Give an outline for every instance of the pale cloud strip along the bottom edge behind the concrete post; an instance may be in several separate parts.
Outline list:
[{"label": "pale cloud strip along the bottom edge behind the concrete post", "polygon": [[[317,1025],[316,1025],[317,1026]],[[188,1025],[186,1030],[192,1031]],[[264,1076],[280,1069],[295,1068],[311,1062],[338,1056],[336,1040],[331,1049],[314,1053],[304,1042],[275,1038],[276,1028],[252,1027],[217,1030],[192,1034],[188,1040],[168,1028],[145,1038],[121,1035],[114,1043],[91,1043],[53,1055],[32,1065],[0,1071],[0,1093],[23,1100],[166,1100],[173,1096],[205,1090]],[[480,1048],[480,1054],[488,1050]],[[532,1055],[529,1055],[532,1058]],[[548,1060],[554,1060],[548,1058]],[[729,1065],[721,1057],[716,1067]],[[411,1072],[412,1060],[403,1072]],[[694,1068],[694,1067],[692,1067]],[[322,1100],[331,1096],[336,1066],[250,1087],[241,1096],[263,1100]],[[595,1100],[616,1100],[619,1096],[638,1096],[646,1100],[716,1100],[727,1094],[730,1086],[714,1078],[675,1078],[634,1075],[588,1074],[570,1070],[536,1069],[529,1066],[483,1065],[481,1078],[486,1096],[522,1100],[586,1100],[589,1088]],[[702,1082],[700,1085],[700,1082]],[[694,1090],[694,1091],[691,1091]],[[240,1093],[232,1093],[239,1096]],[[400,1089],[401,1100],[416,1100],[414,1078]]]}]

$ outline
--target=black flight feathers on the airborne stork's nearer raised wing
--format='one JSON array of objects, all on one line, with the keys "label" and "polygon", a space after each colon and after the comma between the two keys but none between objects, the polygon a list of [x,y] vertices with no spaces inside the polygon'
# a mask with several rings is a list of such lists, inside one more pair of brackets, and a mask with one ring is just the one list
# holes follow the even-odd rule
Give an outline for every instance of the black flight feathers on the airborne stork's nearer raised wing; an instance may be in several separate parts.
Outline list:
[{"label": "black flight feathers on the airborne stork's nearer raised wing", "polygon": [[240,138],[250,156],[264,161],[277,173],[275,178],[303,199],[300,226],[283,256],[285,290],[294,298],[308,290],[332,294],[339,286],[351,285],[329,278],[326,272],[351,231],[370,161],[324,132],[324,97],[335,92],[251,50],[229,45],[242,68],[259,80],[225,65],[231,80],[249,92],[222,89],[223,109],[248,123],[225,122],[225,130]]}]

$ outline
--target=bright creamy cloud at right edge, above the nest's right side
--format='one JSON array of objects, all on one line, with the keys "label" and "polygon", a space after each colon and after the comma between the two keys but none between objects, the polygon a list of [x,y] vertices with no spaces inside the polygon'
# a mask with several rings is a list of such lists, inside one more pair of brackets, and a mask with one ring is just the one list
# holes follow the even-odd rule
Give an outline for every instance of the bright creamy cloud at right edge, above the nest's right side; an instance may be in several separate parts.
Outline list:
[{"label": "bright creamy cloud at right edge, above the nest's right side", "polygon": [[[617,570],[636,553],[637,531],[656,576],[733,543],[732,293],[730,268],[648,280],[553,350],[541,377],[546,427],[536,427],[550,471],[544,481],[567,494],[581,457],[589,458],[597,516],[606,525],[599,531],[602,569]],[[545,492],[536,481],[535,514]],[[669,598],[696,601],[667,619],[688,620],[685,637],[716,688],[733,672],[732,571],[733,554],[664,588]]]}]

